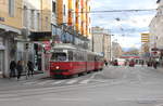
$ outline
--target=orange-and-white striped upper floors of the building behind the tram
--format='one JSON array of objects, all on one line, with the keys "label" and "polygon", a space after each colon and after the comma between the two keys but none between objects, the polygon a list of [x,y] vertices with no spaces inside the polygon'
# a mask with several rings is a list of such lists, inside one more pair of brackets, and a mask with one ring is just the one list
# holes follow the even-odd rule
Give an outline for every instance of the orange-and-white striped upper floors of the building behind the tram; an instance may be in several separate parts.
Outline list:
[{"label": "orange-and-white striped upper floors of the building behind the tram", "polygon": [[90,38],[89,1],[58,0],[58,25],[66,24],[72,26],[82,36]]}]

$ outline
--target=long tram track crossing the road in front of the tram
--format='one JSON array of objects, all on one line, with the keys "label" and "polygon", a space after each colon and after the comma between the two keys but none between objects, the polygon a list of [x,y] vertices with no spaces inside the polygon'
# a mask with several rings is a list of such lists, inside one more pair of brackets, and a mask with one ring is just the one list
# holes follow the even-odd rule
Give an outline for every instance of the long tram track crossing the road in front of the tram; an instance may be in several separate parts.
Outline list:
[{"label": "long tram track crossing the road in front of the tram", "polygon": [[5,91],[0,92],[0,100],[1,98],[17,98],[17,97],[27,97],[34,95],[43,95],[43,94],[51,94],[51,93],[64,93],[68,91],[74,91],[78,89],[95,89],[95,88],[104,88],[108,85],[116,85],[124,83],[124,81],[112,82],[110,81],[99,81],[89,84],[73,84],[73,85],[64,85],[64,87],[51,87],[51,88],[39,88],[39,89],[29,89],[29,90],[15,90],[15,91]]}]

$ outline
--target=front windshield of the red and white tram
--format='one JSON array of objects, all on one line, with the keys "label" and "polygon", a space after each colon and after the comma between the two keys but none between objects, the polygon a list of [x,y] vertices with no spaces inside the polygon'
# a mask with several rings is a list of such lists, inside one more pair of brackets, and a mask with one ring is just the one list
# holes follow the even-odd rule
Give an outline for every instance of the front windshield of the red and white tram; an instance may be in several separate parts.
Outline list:
[{"label": "front windshield of the red and white tram", "polygon": [[52,61],[66,61],[66,53],[53,53]]}]

